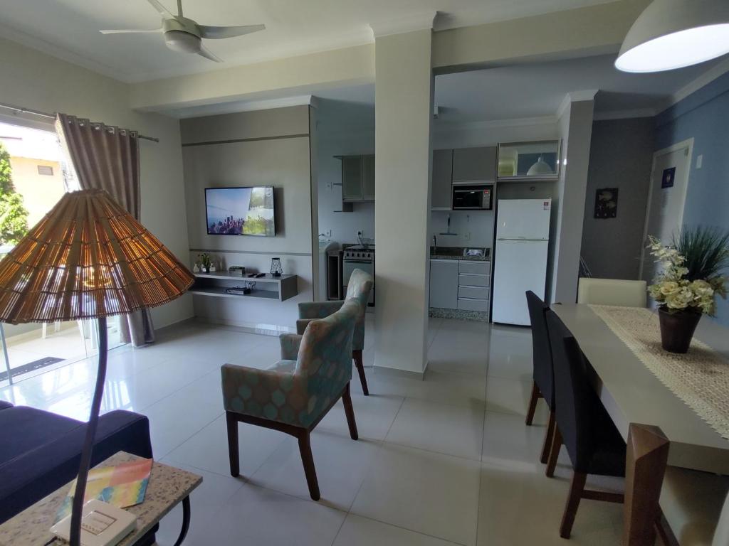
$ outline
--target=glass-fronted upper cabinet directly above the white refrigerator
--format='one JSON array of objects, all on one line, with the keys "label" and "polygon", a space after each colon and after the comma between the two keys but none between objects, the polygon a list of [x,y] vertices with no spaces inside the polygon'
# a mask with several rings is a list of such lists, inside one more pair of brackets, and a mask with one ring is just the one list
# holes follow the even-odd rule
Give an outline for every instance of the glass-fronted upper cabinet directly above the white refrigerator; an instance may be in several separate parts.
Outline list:
[{"label": "glass-fronted upper cabinet directly above the white refrigerator", "polygon": [[499,144],[499,181],[554,180],[559,164],[560,141]]}]

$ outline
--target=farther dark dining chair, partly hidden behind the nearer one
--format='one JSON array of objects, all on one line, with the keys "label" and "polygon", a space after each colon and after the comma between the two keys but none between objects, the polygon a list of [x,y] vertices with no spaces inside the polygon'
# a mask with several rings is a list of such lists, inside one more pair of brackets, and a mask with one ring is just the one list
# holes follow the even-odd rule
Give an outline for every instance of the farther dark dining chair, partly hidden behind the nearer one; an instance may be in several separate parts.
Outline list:
[{"label": "farther dark dining chair, partly hidden behind the nearer one", "polygon": [[531,383],[531,398],[529,408],[526,411],[526,424],[531,426],[534,421],[534,411],[537,410],[539,398],[543,398],[549,406],[549,422],[545,434],[542,455],[539,460],[547,462],[549,448],[554,434],[554,370],[552,363],[552,347],[550,346],[549,333],[547,333],[547,311],[549,306],[542,301],[537,294],[531,290],[526,293],[526,304],[529,307],[529,321],[531,322],[531,349],[533,352]]}]

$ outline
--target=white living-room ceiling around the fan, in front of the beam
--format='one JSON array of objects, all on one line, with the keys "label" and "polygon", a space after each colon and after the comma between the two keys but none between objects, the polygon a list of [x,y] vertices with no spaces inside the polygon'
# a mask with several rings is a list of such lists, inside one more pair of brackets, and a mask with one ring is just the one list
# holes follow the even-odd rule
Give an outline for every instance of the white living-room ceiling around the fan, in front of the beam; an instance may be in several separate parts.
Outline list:
[{"label": "white living-room ceiling around the fan, in front of the beam", "polygon": [[[176,12],[175,0],[161,0]],[[266,31],[206,47],[225,66],[303,55],[373,41],[370,23],[438,12],[435,28],[540,15],[612,0],[184,0],[184,15],[205,25],[264,23]],[[125,82],[221,68],[168,50],[158,34],[110,35],[102,28],[159,28],[146,0],[2,0],[0,35]]]}]

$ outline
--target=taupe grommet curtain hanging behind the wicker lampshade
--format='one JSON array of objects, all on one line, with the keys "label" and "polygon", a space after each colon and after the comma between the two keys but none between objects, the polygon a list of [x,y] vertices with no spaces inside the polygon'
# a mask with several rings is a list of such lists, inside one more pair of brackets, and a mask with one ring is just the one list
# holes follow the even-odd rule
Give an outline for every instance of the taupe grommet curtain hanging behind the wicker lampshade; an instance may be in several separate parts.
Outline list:
[{"label": "taupe grommet curtain hanging behind the wicker lampshade", "polygon": [[[139,138],[135,131],[58,114],[56,130],[69,154],[80,189],[104,189],[139,220]],[[126,320],[124,320],[126,318]],[[124,343],[155,341],[148,309],[120,319]]]}]

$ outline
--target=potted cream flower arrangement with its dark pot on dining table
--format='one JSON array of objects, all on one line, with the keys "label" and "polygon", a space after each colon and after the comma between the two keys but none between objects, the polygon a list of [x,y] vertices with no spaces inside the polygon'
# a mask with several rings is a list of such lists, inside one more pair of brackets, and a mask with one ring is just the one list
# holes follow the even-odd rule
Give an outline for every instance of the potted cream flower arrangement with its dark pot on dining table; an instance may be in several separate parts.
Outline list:
[{"label": "potted cream flower arrangement with its dark pot on dining table", "polygon": [[650,253],[662,271],[648,288],[657,301],[660,341],[668,352],[685,353],[702,314],[714,315],[716,296],[726,298],[729,233],[685,228],[669,246],[650,237]]}]

